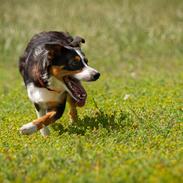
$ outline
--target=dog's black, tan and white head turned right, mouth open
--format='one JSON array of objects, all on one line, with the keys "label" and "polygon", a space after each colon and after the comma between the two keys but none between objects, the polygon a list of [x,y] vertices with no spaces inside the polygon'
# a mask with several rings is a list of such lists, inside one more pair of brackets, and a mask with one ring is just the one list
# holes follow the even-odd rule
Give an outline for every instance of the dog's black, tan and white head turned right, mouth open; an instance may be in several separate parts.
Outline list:
[{"label": "dog's black, tan and white head turned right, mouth open", "polygon": [[[59,42],[44,44],[43,74],[53,76],[63,83],[65,90],[78,106],[83,106],[87,93],[80,81],[96,81],[100,73],[88,65],[88,60],[80,48],[84,39],[76,37],[70,44]],[[46,57],[46,58],[45,58]]]}]

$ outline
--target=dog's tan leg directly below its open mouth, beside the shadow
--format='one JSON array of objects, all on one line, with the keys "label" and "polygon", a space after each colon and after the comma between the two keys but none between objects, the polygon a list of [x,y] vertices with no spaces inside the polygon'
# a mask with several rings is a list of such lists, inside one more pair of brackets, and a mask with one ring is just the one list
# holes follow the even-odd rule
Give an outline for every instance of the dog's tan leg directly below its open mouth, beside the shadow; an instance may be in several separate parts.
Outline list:
[{"label": "dog's tan leg directly below its open mouth, beside the shadow", "polygon": [[78,115],[77,115],[77,109],[76,109],[76,102],[70,95],[67,95],[67,101],[70,104],[69,114],[70,114],[71,122],[77,122]]}]

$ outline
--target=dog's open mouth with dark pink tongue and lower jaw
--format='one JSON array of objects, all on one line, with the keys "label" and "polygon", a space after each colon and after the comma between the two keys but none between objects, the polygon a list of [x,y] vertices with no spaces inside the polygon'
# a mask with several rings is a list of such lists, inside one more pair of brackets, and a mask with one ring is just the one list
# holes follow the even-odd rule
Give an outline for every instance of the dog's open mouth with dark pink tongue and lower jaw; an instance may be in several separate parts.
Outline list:
[{"label": "dog's open mouth with dark pink tongue and lower jaw", "polygon": [[70,76],[65,76],[63,79],[77,105],[79,107],[84,106],[87,93],[80,81]]}]

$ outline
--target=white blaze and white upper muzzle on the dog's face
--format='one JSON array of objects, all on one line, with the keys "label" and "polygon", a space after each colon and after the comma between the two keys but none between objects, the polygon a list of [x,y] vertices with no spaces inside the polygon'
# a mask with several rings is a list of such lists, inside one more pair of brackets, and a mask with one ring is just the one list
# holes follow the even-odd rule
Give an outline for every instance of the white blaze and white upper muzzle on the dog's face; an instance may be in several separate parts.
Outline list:
[{"label": "white blaze and white upper muzzle on the dog's face", "polygon": [[93,80],[93,76],[98,73],[97,70],[93,69],[92,67],[89,67],[85,61],[84,61],[84,56],[82,55],[82,53],[80,52],[80,50],[75,49],[76,53],[80,56],[83,64],[84,64],[84,68],[82,69],[82,71],[78,74],[73,75],[76,79],[78,80],[83,80],[83,81],[92,81]]}]

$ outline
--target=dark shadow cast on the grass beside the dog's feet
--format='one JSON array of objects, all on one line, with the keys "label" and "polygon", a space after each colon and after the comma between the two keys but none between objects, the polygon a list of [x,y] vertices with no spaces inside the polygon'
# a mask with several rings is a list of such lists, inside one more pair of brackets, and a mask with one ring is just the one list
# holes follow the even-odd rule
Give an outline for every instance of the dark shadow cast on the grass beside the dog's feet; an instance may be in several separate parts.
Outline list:
[{"label": "dark shadow cast on the grass beside the dog's feet", "polygon": [[91,116],[84,116],[77,122],[68,125],[64,128],[62,124],[55,123],[52,127],[59,134],[65,132],[69,134],[84,135],[87,130],[96,130],[99,128],[105,128],[107,131],[117,130],[125,125],[123,121],[127,118],[127,114],[122,111],[118,114],[113,112],[112,114],[106,114],[103,111],[95,111]]}]

